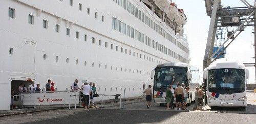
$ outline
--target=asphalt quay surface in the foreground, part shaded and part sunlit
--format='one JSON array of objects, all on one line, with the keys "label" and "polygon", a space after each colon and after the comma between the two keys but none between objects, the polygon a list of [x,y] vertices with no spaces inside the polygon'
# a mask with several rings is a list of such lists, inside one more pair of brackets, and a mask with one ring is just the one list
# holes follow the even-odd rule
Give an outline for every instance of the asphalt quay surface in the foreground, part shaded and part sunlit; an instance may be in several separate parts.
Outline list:
[{"label": "asphalt quay surface in the foreground, part shaded and part sunlit", "polygon": [[255,114],[101,109],[34,123],[255,123]]}]

